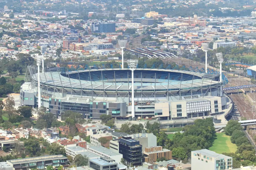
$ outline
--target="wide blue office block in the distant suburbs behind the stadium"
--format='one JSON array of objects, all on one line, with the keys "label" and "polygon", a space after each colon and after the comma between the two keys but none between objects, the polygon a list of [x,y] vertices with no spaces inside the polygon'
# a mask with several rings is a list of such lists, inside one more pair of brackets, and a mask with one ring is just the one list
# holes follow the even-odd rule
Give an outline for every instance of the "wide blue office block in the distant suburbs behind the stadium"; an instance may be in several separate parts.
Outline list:
[{"label": "wide blue office block in the distant suburbs behind the stadium", "polygon": [[100,32],[100,33],[114,33],[115,32],[115,23],[92,24],[91,30],[93,32]]}]

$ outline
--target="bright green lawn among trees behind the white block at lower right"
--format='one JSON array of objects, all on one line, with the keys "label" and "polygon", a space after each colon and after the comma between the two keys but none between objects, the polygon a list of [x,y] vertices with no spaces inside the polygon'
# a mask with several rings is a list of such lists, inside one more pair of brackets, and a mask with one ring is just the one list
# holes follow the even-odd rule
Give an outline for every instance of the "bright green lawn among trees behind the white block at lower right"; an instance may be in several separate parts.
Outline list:
[{"label": "bright green lawn among trees behind the white block at lower right", "polygon": [[234,143],[231,143],[230,136],[225,135],[225,133],[216,133],[212,137],[212,146],[209,150],[214,151],[218,154],[226,153],[235,153],[237,146]]}]

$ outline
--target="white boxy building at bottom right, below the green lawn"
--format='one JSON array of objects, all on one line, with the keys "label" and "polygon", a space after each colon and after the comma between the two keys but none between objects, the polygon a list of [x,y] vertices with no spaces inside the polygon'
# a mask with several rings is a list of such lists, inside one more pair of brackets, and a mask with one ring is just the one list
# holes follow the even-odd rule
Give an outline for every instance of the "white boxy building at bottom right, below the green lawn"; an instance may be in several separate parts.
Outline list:
[{"label": "white boxy building at bottom right, below the green lawn", "polygon": [[232,168],[232,158],[216,152],[201,149],[191,151],[191,170],[224,170]]}]

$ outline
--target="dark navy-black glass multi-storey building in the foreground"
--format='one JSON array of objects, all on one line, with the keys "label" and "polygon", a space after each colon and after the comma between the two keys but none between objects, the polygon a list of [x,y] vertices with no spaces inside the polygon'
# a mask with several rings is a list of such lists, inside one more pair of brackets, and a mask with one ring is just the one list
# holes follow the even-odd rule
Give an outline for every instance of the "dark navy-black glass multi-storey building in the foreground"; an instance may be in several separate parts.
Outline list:
[{"label": "dark navy-black glass multi-storey building in the foreground", "polygon": [[123,136],[119,139],[119,153],[129,166],[142,165],[142,145],[140,142],[132,139],[131,136]]}]

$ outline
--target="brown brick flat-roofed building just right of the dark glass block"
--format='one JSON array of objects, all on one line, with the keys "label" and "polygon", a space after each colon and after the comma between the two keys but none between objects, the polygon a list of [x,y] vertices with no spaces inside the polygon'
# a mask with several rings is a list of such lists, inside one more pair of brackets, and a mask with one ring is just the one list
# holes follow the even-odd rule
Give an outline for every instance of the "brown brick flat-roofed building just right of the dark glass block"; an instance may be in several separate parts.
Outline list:
[{"label": "brown brick flat-roofed building just right of the dark glass block", "polygon": [[163,146],[147,147],[143,152],[143,162],[156,162],[158,158],[172,159],[172,151],[163,149]]}]

